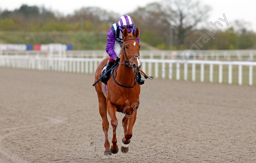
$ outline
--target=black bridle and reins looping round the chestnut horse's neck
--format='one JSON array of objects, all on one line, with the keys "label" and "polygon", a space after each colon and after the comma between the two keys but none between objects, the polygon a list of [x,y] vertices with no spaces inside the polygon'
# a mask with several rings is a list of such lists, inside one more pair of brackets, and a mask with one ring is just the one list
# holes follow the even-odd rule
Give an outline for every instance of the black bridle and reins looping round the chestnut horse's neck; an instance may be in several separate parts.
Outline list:
[{"label": "black bridle and reins looping round the chestnut horse's neck", "polygon": [[[124,40],[124,42],[126,42],[126,41],[128,41],[128,40],[136,40],[136,38],[129,38],[129,39],[127,39],[127,40]],[[126,52],[125,52],[125,48],[124,48],[124,42],[123,42],[123,58],[126,58],[126,60],[127,60],[128,63],[127,63],[126,61],[124,61],[123,63],[119,63],[119,65],[124,65],[124,66],[128,65],[129,67],[131,67],[131,65],[133,64],[133,62],[130,63],[129,59],[132,58],[132,57],[134,57],[134,58],[133,58],[133,61],[134,61],[134,59],[135,59],[135,58],[139,58],[139,56],[136,54],[136,55],[133,55],[133,56],[130,56],[129,58],[127,58]],[[117,66],[118,66],[118,65],[116,65],[116,67],[117,67]],[[112,73],[113,80],[115,81],[115,83],[116,83],[117,85],[121,86],[121,87],[124,87],[124,88],[133,88],[133,87],[135,87],[135,85],[136,85],[136,83],[137,83],[137,81],[138,81],[137,75],[135,74],[135,83],[134,83],[133,86],[126,86],[126,85],[119,84],[119,83],[116,81],[116,78],[114,77],[114,69],[115,69],[116,67],[112,68],[112,72],[111,72],[111,73]],[[116,72],[116,71],[115,71],[115,72]],[[117,75],[117,73],[116,73],[116,75]],[[138,85],[139,85],[139,84],[138,84]]]}]

